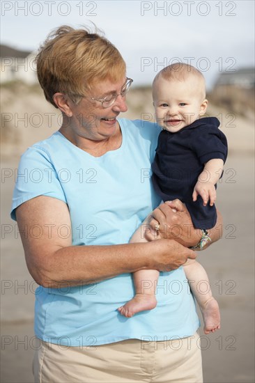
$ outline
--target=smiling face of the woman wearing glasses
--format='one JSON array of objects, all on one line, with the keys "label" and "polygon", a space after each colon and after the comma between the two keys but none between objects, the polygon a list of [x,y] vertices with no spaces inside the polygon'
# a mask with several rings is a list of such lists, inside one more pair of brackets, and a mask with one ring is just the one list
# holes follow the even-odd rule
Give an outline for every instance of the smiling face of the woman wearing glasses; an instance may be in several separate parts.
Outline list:
[{"label": "smiling face of the woman wearing glasses", "polygon": [[[117,83],[109,80],[92,86],[91,95],[83,97],[79,104],[71,102],[70,109],[72,132],[86,139],[100,141],[113,136],[119,129],[116,117],[121,112],[127,111],[125,96],[121,96],[121,90],[125,85],[125,77]],[[104,98],[117,93],[118,97],[110,107],[102,107],[102,102],[91,100],[93,98]]]}]

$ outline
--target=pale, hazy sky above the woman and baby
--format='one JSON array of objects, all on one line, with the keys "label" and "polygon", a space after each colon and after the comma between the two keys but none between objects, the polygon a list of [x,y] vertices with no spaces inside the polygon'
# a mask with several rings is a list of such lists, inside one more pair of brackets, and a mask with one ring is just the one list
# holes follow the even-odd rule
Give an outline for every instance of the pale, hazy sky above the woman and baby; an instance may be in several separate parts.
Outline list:
[{"label": "pale, hazy sky above the woman and baby", "polygon": [[33,51],[57,26],[94,23],[121,52],[134,85],[181,61],[201,70],[210,89],[220,72],[254,66],[254,3],[1,0],[1,44]]}]

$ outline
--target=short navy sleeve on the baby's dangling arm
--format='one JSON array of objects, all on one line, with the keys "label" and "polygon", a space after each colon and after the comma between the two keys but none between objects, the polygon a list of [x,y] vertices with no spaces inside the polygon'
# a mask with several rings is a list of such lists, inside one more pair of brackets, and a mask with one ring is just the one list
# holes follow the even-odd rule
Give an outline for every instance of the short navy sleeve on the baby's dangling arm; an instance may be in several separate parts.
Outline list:
[{"label": "short navy sleeve on the baby's dangling arm", "polygon": [[215,158],[226,161],[228,144],[221,130],[215,127],[202,127],[194,132],[196,133],[191,136],[190,148],[199,157],[201,164]]}]

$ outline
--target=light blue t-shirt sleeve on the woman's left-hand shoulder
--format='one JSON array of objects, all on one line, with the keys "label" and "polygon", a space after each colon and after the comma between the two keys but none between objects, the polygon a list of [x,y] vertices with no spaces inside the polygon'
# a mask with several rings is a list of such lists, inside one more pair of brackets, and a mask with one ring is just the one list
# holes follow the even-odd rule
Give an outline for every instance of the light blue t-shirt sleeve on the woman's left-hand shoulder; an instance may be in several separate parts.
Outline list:
[{"label": "light blue t-shirt sleeve on the woman's left-hand shoulder", "polygon": [[10,217],[16,220],[15,209],[38,196],[54,197],[66,203],[61,182],[49,155],[45,150],[32,146],[20,159]]}]

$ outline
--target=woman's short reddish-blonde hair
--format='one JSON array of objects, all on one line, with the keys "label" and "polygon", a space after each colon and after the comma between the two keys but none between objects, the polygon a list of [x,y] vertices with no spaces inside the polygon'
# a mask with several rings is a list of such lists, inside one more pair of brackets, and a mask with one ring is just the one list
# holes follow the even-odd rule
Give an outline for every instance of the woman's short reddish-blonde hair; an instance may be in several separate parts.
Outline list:
[{"label": "woman's short reddish-blonde hair", "polygon": [[54,107],[54,93],[64,93],[78,103],[93,84],[120,81],[126,72],[118,49],[86,27],[64,25],[54,30],[40,47],[36,63],[40,86]]}]

